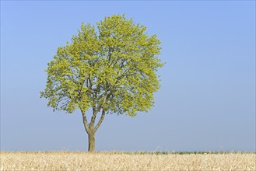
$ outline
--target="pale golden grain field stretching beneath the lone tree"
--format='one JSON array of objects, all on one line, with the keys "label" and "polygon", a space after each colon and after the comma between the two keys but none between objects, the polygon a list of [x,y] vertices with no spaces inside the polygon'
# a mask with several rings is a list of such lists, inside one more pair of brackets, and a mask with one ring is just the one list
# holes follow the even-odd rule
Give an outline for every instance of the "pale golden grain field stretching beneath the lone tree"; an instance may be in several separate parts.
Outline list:
[{"label": "pale golden grain field stretching beneath the lone tree", "polygon": [[1,170],[256,170],[255,152],[0,152]]}]

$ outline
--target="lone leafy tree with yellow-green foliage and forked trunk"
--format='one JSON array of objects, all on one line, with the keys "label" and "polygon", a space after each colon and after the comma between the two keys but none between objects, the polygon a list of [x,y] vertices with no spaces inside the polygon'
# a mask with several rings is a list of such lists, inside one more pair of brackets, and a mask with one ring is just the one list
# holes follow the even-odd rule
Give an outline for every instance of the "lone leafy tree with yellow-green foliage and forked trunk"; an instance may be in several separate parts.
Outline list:
[{"label": "lone leafy tree with yellow-green foliage and forked trunk", "polygon": [[[105,17],[96,28],[82,23],[72,43],[58,47],[47,64],[46,88],[40,92],[54,110],[81,111],[89,152],[95,149],[95,132],[105,114],[134,117],[153,106],[153,92],[160,89],[156,71],[163,66],[156,56],[160,40],[149,37],[146,26],[115,15]],[[93,114],[87,120],[89,109]]]}]

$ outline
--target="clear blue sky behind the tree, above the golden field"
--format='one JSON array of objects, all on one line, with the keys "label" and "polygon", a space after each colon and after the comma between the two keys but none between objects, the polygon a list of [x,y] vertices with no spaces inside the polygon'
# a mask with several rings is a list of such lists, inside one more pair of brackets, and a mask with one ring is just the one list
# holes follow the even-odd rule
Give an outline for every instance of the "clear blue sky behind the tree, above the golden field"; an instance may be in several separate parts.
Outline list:
[{"label": "clear blue sky behind the tree, above the golden field", "polygon": [[86,150],[79,111],[40,99],[47,62],[82,22],[123,14],[162,41],[156,106],[107,115],[96,150],[255,151],[255,2],[1,1],[1,150]]}]

